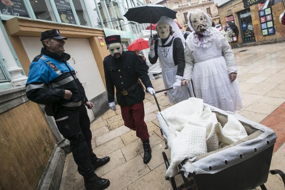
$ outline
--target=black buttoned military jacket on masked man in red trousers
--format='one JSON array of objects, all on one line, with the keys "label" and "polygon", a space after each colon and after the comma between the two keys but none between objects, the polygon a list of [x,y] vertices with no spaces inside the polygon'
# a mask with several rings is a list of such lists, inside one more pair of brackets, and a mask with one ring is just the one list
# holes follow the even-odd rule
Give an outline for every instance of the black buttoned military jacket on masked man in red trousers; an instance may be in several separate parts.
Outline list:
[{"label": "black buttoned military jacket on masked man in red trousers", "polygon": [[104,59],[103,65],[109,103],[114,101],[114,86],[116,87],[119,105],[133,105],[144,100],[145,93],[140,84],[128,92],[128,95],[118,95],[121,91],[129,89],[137,83],[138,78],[141,79],[146,88],[152,87],[146,67],[141,63],[137,54],[127,51],[123,52],[119,58],[109,55]]}]

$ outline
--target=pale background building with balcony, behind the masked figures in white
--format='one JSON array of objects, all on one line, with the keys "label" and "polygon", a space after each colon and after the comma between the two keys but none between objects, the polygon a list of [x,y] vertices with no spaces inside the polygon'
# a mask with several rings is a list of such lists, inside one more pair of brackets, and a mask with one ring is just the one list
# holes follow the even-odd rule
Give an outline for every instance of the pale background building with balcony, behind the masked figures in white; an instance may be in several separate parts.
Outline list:
[{"label": "pale background building with balcony, behind the masked figures in white", "polygon": [[208,13],[212,19],[212,26],[220,23],[219,13],[217,7],[214,5],[214,1],[209,0],[157,0],[153,1],[154,4],[164,5],[174,11],[177,11],[176,18],[178,24],[182,27],[181,31],[190,31],[188,27],[187,14],[188,11],[194,11],[200,9]]}]

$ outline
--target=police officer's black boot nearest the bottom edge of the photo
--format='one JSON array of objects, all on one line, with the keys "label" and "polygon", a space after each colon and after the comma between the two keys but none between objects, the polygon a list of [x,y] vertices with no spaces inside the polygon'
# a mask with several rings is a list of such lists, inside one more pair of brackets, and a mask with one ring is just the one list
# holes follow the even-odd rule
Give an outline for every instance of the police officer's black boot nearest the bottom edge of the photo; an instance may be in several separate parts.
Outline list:
[{"label": "police officer's black boot nearest the bottom edge of the photo", "polygon": [[91,190],[101,190],[106,189],[110,185],[109,179],[103,179],[101,177],[98,177],[96,174],[93,175],[90,179],[84,178],[84,186],[85,189]]}]

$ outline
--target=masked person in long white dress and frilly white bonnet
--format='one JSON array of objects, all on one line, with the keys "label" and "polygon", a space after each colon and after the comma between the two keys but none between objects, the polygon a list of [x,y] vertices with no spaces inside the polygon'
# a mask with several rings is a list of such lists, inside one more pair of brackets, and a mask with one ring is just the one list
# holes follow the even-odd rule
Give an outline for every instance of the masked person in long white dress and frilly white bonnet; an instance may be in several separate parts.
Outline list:
[{"label": "masked person in long white dress and frilly white bonnet", "polygon": [[211,17],[199,10],[189,11],[193,31],[186,39],[182,85],[193,80],[196,98],[224,111],[235,112],[243,105],[235,56],[226,38],[211,27]]}]

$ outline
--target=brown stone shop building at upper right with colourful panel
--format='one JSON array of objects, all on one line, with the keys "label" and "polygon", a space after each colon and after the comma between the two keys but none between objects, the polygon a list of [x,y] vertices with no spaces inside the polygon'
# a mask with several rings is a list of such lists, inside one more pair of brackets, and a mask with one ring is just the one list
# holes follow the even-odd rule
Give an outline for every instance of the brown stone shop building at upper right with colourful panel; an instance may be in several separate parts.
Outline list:
[{"label": "brown stone shop building at upper right with colourful panel", "polygon": [[232,46],[241,44],[262,44],[285,40],[285,27],[279,22],[284,11],[284,1],[262,10],[263,1],[214,0],[221,23],[226,21],[237,25],[239,36]]}]

